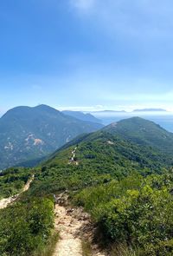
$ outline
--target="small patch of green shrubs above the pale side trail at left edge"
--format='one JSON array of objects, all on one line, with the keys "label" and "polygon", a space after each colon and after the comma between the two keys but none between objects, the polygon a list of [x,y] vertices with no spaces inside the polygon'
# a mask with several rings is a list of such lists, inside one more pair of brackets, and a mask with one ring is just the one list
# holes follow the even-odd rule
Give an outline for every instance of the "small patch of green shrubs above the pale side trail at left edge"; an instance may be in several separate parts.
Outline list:
[{"label": "small patch of green shrubs above the pale side trail at left edge", "polygon": [[0,199],[19,194],[32,174],[31,169],[22,167],[10,168],[0,173]]}]

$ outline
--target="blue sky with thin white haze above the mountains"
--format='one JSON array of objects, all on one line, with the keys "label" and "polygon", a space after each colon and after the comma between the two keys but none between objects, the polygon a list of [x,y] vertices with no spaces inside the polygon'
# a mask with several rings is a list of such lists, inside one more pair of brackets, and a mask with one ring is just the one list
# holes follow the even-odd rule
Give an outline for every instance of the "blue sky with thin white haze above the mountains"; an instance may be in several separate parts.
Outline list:
[{"label": "blue sky with thin white haze above the mountains", "polygon": [[0,113],[173,110],[171,0],[0,3]]}]

